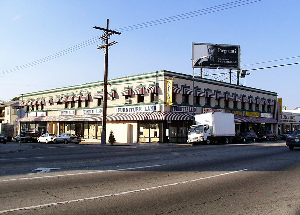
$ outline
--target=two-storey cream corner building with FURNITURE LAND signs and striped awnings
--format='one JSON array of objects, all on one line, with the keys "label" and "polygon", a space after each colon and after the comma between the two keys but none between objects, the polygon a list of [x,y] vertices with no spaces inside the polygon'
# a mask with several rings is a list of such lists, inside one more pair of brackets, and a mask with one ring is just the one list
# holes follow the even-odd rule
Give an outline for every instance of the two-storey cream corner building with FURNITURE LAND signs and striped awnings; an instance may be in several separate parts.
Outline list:
[{"label": "two-storey cream corner building with FURNITURE LAND signs and striped awnings", "polygon": [[[193,76],[162,70],[108,83],[107,138],[112,130],[116,142],[186,142],[193,122]],[[103,81],[22,94],[22,130],[74,133],[100,143],[103,94]],[[277,132],[281,123],[277,93],[195,77],[195,113],[211,111],[234,113],[237,133]]]}]

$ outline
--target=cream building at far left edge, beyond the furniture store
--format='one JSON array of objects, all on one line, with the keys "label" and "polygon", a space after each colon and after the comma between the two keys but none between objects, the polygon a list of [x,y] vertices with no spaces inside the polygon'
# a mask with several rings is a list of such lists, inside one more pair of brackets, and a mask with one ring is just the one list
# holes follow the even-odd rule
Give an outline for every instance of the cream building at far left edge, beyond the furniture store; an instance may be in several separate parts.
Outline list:
[{"label": "cream building at far left edge, beyond the furniture store", "polygon": [[[19,101],[8,101],[0,103],[0,123],[10,123],[16,125],[18,118],[18,109],[13,109],[13,106],[19,106]],[[15,126],[15,135],[17,134],[17,127]]]}]

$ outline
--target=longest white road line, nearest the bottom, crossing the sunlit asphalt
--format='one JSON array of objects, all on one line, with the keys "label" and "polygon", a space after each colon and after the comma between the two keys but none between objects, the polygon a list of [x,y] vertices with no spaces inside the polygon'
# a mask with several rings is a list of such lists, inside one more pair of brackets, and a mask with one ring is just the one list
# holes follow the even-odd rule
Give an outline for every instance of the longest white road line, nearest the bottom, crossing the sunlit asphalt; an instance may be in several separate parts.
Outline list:
[{"label": "longest white road line, nearest the bottom, crossing the sunlit asphalt", "polygon": [[66,203],[70,203],[70,202],[80,202],[80,201],[100,199],[100,198],[105,198],[105,197],[110,197],[110,196],[120,196],[120,195],[124,195],[124,194],[128,194],[128,193],[136,193],[136,192],[146,191],[146,190],[154,190],[154,189],[158,189],[158,188],[161,188],[161,187],[169,187],[169,186],[175,186],[175,185],[178,185],[178,184],[185,184],[185,183],[189,183],[189,182],[200,181],[200,180],[204,180],[204,179],[208,179],[208,178],[216,178],[216,177],[219,177],[219,176],[229,175],[229,174],[232,174],[232,173],[242,172],[242,171],[246,171],[246,170],[249,170],[249,169],[241,169],[241,170],[238,170],[238,171],[227,172],[227,173],[212,175],[212,176],[203,177],[203,178],[197,178],[197,179],[193,179],[193,180],[189,180],[189,181],[181,181],[181,182],[177,182],[177,183],[173,183],[173,184],[165,184],[165,185],[161,185],[161,186],[157,186],[157,187],[149,187],[149,188],[144,188],[144,189],[140,189],[140,190],[131,190],[131,191],[122,192],[122,193],[112,193],[112,194],[107,194],[107,195],[103,195],[103,196],[94,196],[94,197],[89,197],[89,198],[84,198],[84,199],[74,199],[74,200],[64,201],[64,202],[54,202],[54,203],[48,203],[48,204],[44,204],[44,205],[34,205],[34,206],[29,206],[29,207],[24,207],[24,208],[13,208],[13,209],[5,210],[5,211],[0,211],[0,214],[6,213],[6,212],[12,212],[12,211],[19,211],[19,210],[26,210],[26,209],[28,210],[28,209],[41,208],[41,207],[49,207],[51,205],[61,205],[61,204],[66,204]]}]

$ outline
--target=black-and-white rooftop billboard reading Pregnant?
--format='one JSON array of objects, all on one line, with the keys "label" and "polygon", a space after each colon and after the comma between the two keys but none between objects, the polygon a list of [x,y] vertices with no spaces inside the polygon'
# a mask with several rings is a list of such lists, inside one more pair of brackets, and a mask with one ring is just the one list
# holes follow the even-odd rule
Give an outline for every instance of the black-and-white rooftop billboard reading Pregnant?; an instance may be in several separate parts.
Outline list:
[{"label": "black-and-white rooftop billboard reading Pregnant?", "polygon": [[240,69],[240,46],[192,43],[193,68]]}]

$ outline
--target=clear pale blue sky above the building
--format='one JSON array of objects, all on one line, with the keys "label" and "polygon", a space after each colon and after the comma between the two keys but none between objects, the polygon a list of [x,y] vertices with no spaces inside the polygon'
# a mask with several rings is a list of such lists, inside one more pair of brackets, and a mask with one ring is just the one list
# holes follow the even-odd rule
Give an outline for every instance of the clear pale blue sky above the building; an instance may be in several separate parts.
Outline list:
[{"label": "clear pale blue sky above the building", "polygon": [[[106,28],[107,19],[109,28],[117,30],[230,2],[233,0],[1,0],[0,101],[102,81],[104,52],[97,45],[101,44],[98,37],[103,33],[93,27]],[[198,16],[112,35],[110,42],[118,43],[110,46],[108,79],[159,70],[192,74],[192,43],[233,44],[240,45],[244,70],[294,64],[249,71],[250,75],[240,79],[240,84],[277,92],[288,109],[300,106],[295,96],[300,79],[300,64],[295,64],[300,62],[300,1],[235,3],[238,4],[194,14]],[[76,45],[88,40],[93,43],[75,50]],[[71,47],[75,51],[61,52]],[[63,55],[54,55],[58,52]],[[52,59],[46,58],[49,56]],[[43,58],[45,62],[38,61]],[[38,64],[30,64],[35,61]],[[271,62],[263,63],[266,61]],[[195,69],[198,73],[199,69]],[[222,81],[223,77],[219,79]]]}]

